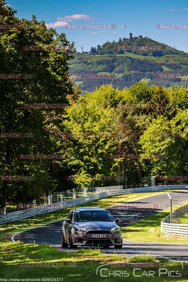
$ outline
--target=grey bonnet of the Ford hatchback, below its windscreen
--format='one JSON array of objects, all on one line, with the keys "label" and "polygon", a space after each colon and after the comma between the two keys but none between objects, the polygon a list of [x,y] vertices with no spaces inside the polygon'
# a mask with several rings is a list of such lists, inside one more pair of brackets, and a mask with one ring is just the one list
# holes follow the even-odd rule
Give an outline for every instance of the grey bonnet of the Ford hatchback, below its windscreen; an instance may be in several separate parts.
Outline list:
[{"label": "grey bonnet of the Ford hatchback, below its windscreen", "polygon": [[116,222],[107,222],[107,221],[82,221],[82,222],[74,222],[74,226],[78,226],[80,228],[92,229],[92,228],[105,228],[112,229],[116,227]]}]

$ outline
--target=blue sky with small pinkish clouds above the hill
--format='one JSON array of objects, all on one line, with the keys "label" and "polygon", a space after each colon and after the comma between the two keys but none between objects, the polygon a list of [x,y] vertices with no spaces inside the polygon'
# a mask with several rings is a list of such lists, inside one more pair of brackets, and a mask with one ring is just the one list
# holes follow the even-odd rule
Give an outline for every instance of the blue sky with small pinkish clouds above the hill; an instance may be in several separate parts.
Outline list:
[{"label": "blue sky with small pinkish clouds above the hill", "polygon": [[[65,32],[69,41],[82,45],[84,51],[102,45],[107,40],[118,41],[121,37],[148,36],[177,49],[188,52],[188,30],[160,30],[158,24],[188,24],[188,1],[65,1],[65,0],[8,0],[7,4],[17,10],[19,18],[37,19],[56,28],[58,33]],[[68,24],[125,24],[121,30],[67,30]]]}]

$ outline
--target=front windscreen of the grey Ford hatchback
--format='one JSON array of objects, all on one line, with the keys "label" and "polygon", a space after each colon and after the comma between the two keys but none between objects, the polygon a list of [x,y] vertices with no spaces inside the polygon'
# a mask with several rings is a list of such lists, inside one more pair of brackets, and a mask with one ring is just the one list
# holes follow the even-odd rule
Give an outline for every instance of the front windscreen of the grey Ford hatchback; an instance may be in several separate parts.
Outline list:
[{"label": "front windscreen of the grey Ford hatchback", "polygon": [[107,211],[75,211],[74,221],[113,221]]}]

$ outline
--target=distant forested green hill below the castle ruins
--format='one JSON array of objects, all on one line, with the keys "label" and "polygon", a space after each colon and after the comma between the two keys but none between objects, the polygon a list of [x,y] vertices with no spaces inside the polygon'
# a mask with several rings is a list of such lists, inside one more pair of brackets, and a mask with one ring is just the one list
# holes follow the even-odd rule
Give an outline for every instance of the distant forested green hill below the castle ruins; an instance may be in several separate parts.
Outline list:
[{"label": "distant forested green hill below the castle ruins", "polygon": [[[124,50],[125,47],[136,49],[137,46],[153,47],[148,51]],[[160,46],[161,50],[151,50],[156,49],[155,46]],[[102,46],[98,45],[96,49],[92,47],[91,51],[93,56],[77,53],[70,60],[70,80],[82,91],[93,91],[95,87],[109,83],[112,83],[114,88],[123,89],[140,81],[147,82],[149,86],[152,84],[161,84],[164,87],[188,86],[188,76],[185,76],[188,74],[188,54],[150,38],[128,42],[106,42]],[[103,76],[97,79],[81,78],[74,74],[103,74]],[[164,75],[159,76],[159,74]]]}]

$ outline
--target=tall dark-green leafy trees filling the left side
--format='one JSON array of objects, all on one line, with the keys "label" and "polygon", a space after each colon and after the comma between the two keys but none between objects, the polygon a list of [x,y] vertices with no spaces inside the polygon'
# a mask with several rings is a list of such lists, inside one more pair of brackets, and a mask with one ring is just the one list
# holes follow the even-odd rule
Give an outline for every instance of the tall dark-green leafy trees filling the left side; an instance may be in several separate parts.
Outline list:
[{"label": "tall dark-green leafy trees filling the left side", "polygon": [[[0,31],[0,70],[1,73],[34,74],[35,78],[1,79],[0,125],[2,132],[34,132],[36,138],[1,138],[1,175],[37,175],[37,181],[30,183],[1,182],[1,208],[6,206],[8,196],[15,191],[27,200],[28,195],[45,194],[48,180],[49,188],[56,187],[56,179],[46,171],[56,162],[48,160],[18,160],[18,154],[28,153],[61,153],[57,144],[54,129],[58,123],[61,110],[25,109],[23,103],[66,103],[66,95],[72,94],[72,84],[67,82],[67,61],[73,58],[73,43],[67,41],[65,34],[58,35],[52,28],[47,29],[44,21],[19,20],[14,16],[16,11],[0,2],[0,21],[5,24],[21,24],[22,29]],[[48,51],[23,51],[22,46],[50,46]],[[57,46],[65,47],[54,51]],[[53,136],[54,135],[54,136]],[[56,163],[57,164],[57,163]],[[52,171],[52,169],[50,169]],[[8,189],[12,188],[12,189]],[[10,192],[8,192],[8,190]],[[9,193],[9,194],[8,194]],[[18,197],[19,198],[19,197]]]}]

